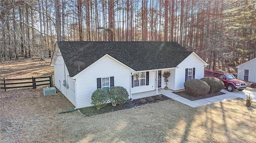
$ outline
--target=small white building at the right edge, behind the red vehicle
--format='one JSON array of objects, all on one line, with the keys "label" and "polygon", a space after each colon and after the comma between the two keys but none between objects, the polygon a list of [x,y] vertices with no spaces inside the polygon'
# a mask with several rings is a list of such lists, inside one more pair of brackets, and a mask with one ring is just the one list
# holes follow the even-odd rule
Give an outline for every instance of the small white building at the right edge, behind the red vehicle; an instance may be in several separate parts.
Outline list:
[{"label": "small white building at the right edge, behind the red vehicle", "polygon": [[239,66],[237,71],[237,78],[240,80],[256,82],[256,58],[243,63]]}]

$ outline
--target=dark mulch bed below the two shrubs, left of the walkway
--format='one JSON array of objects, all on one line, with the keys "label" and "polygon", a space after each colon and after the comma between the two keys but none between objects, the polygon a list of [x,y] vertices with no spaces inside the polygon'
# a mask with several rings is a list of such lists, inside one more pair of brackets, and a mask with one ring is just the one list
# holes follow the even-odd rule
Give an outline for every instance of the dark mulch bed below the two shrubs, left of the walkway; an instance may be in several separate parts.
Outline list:
[{"label": "dark mulch bed below the two shrubs, left of the walkway", "polygon": [[158,96],[151,96],[151,97],[141,98],[136,100],[130,100],[126,102],[124,105],[117,104],[116,106],[112,106],[111,103],[108,103],[106,106],[104,106],[99,110],[97,110],[96,107],[83,108],[83,109],[80,109],[80,112],[84,114],[84,116],[94,116],[97,114],[104,114],[108,112],[130,109],[137,106],[156,103],[156,102],[165,101],[165,100],[172,100],[172,99],[164,95],[158,95]]}]

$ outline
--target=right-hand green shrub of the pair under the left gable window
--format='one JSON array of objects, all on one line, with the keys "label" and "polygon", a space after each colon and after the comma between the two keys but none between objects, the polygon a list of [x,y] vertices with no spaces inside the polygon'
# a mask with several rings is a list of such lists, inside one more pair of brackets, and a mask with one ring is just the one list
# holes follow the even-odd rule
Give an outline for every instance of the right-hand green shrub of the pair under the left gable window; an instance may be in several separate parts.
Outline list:
[{"label": "right-hand green shrub of the pair under the left gable window", "polygon": [[129,97],[129,94],[124,87],[122,86],[110,87],[108,98],[112,103],[112,106],[116,106],[116,104],[126,103],[128,97]]}]

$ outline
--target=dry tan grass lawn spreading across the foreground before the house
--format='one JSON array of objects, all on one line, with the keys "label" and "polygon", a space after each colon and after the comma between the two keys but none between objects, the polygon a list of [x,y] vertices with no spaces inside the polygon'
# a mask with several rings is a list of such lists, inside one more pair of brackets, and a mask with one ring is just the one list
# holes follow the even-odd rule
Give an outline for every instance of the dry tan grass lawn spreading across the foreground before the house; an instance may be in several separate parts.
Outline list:
[{"label": "dry tan grass lawn spreading across the foreground before the house", "polygon": [[58,114],[74,108],[61,93],[43,96],[42,88],[37,88],[36,91],[0,90],[0,93],[2,143],[256,141],[256,103],[252,103],[252,108],[247,108],[242,99],[198,108],[166,100],[85,117],[79,111]]}]

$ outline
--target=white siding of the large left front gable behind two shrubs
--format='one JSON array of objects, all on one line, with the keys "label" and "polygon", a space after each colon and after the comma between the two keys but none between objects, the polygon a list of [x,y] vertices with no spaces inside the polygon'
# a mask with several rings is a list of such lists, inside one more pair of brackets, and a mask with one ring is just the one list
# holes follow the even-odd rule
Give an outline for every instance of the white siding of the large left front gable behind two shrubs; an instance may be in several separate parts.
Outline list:
[{"label": "white siding of the large left front gable behind two shrubs", "polygon": [[97,89],[97,78],[114,76],[114,86],[123,86],[130,94],[131,70],[106,56],[76,75],[77,107],[92,106],[92,92]]}]

